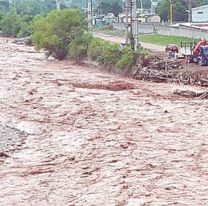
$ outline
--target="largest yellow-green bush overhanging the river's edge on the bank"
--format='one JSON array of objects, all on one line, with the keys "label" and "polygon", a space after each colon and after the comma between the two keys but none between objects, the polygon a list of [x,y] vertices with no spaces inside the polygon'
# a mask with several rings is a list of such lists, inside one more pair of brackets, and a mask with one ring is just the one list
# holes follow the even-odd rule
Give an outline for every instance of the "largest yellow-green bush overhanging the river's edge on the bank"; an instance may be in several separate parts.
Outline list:
[{"label": "largest yellow-green bush overhanging the river's edge on the bank", "polygon": [[72,40],[85,31],[84,16],[78,9],[52,11],[34,21],[32,39],[38,50],[45,49],[49,55],[61,60],[68,53]]}]

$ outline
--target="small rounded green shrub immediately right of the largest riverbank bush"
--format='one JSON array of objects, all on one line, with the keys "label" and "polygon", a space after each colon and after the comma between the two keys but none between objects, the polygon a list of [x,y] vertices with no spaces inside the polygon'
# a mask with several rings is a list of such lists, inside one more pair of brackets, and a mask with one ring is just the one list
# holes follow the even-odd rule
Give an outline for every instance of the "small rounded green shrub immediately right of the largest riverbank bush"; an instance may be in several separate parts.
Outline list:
[{"label": "small rounded green shrub immediately right of the largest riverbank bush", "polygon": [[92,35],[87,33],[72,40],[68,49],[69,58],[80,61],[81,59],[87,57],[88,47],[92,38]]}]

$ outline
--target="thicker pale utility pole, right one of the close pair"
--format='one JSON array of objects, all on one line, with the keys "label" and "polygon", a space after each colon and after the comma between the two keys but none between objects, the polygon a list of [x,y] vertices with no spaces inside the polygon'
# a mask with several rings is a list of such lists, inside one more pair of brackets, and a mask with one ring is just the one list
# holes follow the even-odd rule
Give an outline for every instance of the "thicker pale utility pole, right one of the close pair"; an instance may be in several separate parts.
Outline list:
[{"label": "thicker pale utility pole, right one of the close pair", "polygon": [[132,36],[134,39],[134,51],[137,52],[138,49],[138,19],[137,19],[137,0],[131,0],[131,29]]}]

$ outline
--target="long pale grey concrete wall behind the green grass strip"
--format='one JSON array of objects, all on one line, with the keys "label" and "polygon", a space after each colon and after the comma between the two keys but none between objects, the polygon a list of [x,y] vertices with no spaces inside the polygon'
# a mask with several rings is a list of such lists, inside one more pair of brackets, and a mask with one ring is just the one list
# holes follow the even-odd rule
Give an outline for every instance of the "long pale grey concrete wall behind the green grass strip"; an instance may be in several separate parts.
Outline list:
[{"label": "long pale grey concrete wall behind the green grass strip", "polygon": [[[113,27],[118,30],[124,30],[123,23],[114,23]],[[194,39],[208,39],[208,30],[193,28],[189,26],[162,26],[161,24],[139,24],[138,25],[139,33],[142,34],[160,34],[166,36],[181,36],[189,37]]]}]

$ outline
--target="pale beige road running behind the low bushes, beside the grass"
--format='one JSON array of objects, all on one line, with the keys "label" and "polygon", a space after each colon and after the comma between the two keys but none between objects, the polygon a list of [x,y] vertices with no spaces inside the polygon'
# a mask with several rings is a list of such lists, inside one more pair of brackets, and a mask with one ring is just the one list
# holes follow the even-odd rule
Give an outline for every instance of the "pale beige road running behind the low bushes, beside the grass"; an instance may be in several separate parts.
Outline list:
[{"label": "pale beige road running behind the low bushes, beside the grass", "polygon": [[[118,36],[112,36],[110,34],[103,34],[100,32],[93,32],[93,35],[95,37],[99,37],[102,38],[104,40],[107,41],[111,41],[111,42],[115,42],[115,43],[125,43],[125,38],[124,37],[118,37]],[[141,42],[142,47],[146,48],[146,49],[151,49],[153,51],[159,51],[159,52],[164,52],[165,51],[165,47],[164,46],[160,46],[160,45],[156,45],[156,44],[149,44],[149,43],[144,43]]]}]

